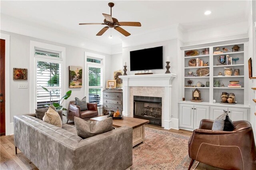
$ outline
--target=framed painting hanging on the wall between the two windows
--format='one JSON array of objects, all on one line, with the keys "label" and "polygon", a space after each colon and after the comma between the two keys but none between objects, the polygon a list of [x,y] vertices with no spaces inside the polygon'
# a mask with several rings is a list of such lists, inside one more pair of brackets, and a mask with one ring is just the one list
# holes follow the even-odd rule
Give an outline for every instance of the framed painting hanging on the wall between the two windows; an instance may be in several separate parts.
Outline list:
[{"label": "framed painting hanging on the wall between the two windows", "polygon": [[82,88],[82,67],[69,66],[69,88]]}]

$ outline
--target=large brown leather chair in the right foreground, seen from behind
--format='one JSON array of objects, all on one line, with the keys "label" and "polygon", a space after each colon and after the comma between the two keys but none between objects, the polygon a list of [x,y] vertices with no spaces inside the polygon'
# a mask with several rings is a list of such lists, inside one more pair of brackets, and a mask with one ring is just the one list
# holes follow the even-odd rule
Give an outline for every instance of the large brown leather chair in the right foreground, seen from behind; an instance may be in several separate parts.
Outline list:
[{"label": "large brown leather chair in the right foreground, seen from behind", "polygon": [[188,141],[188,154],[194,160],[227,170],[256,170],[256,147],[252,126],[234,121],[234,130],[212,130],[214,121],[202,119]]}]

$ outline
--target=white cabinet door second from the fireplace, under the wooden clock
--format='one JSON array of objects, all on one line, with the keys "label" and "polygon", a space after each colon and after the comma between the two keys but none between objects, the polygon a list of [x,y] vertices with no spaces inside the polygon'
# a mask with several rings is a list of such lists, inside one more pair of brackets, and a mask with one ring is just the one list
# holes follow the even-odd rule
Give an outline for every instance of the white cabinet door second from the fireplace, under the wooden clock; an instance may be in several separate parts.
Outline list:
[{"label": "white cabinet door second from the fireplace, under the wooden clock", "polygon": [[209,106],[194,105],[194,129],[199,128],[202,119],[209,119]]}]

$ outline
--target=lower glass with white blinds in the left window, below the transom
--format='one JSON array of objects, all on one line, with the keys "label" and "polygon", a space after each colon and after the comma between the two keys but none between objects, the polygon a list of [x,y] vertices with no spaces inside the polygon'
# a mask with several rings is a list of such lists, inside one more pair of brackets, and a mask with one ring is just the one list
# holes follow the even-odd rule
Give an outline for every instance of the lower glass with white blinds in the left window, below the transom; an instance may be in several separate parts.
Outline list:
[{"label": "lower glass with white blinds in the left window, below the transom", "polygon": [[[60,81],[60,63],[37,61],[36,71],[36,89],[37,89],[37,108],[42,108],[46,104],[58,102],[60,100],[61,81]],[[46,87],[50,93],[42,87]]]}]

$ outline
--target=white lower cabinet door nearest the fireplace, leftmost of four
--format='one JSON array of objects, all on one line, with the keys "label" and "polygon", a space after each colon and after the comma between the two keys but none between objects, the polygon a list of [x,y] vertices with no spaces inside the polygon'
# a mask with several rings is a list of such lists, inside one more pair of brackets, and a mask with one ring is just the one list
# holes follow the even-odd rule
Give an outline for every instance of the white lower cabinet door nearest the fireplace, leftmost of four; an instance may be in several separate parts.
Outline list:
[{"label": "white lower cabinet door nearest the fireplace, leftmost of four", "polygon": [[194,128],[193,105],[180,104],[180,127]]}]

